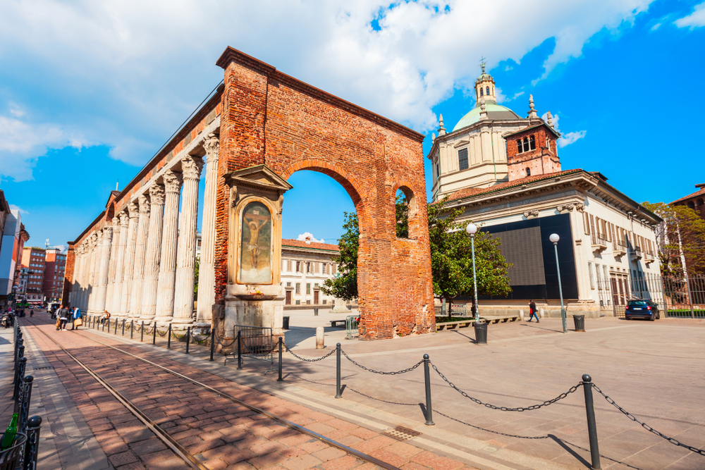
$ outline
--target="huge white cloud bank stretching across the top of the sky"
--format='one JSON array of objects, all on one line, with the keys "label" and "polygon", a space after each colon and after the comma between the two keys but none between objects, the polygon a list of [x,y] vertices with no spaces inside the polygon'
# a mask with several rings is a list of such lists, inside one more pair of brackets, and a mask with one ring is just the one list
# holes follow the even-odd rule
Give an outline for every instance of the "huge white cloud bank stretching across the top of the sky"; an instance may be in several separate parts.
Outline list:
[{"label": "huge white cloud bank stretching across the top of the sky", "polygon": [[5,2],[0,79],[27,83],[12,99],[32,115],[31,124],[20,122],[35,144],[23,142],[27,132],[9,136],[17,142],[4,145],[23,147],[24,169],[8,167],[8,149],[0,148],[0,175],[29,178],[27,161],[70,135],[144,164],[221,80],[214,62],[227,45],[424,132],[436,125],[433,106],[455,89],[472,89],[476,58],[484,54],[490,68],[518,63],[555,37],[545,77],[580,56],[596,32],[629,24],[650,1],[450,0],[448,9],[434,0]]}]

